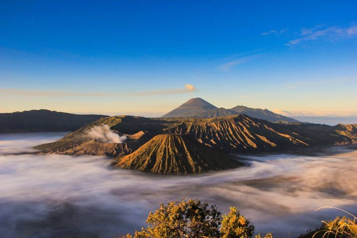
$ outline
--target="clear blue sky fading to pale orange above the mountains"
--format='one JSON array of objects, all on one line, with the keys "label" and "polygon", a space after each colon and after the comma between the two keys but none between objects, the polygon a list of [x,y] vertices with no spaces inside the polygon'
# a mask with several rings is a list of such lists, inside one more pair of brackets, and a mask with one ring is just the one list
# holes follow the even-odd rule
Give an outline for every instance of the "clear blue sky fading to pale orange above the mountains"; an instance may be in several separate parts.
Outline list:
[{"label": "clear blue sky fading to pale orange above the mountains", "polygon": [[159,116],[202,97],[356,116],[356,9],[354,0],[1,1],[0,112]]}]

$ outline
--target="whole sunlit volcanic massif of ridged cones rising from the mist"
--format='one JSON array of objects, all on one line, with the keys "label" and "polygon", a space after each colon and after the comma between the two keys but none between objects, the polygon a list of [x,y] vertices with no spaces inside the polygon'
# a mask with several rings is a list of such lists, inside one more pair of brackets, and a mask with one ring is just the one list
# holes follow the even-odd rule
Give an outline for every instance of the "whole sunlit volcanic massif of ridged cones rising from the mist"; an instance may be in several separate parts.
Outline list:
[{"label": "whole sunlit volcanic massif of ridged cones rising from the mist", "polygon": [[[93,128],[108,129],[105,135]],[[100,130],[96,130],[100,131]],[[113,142],[113,138],[120,139]],[[62,139],[36,146],[43,153],[109,155],[120,168],[156,174],[200,173],[237,166],[230,153],[278,152],[357,142],[356,124],[281,124],[246,115],[99,119]],[[218,161],[217,161],[218,160]]]}]

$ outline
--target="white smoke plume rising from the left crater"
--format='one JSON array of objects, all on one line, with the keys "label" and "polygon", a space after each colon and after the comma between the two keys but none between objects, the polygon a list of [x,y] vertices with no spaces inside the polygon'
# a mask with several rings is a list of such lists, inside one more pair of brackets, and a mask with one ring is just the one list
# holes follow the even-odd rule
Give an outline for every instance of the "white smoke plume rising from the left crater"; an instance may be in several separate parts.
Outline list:
[{"label": "white smoke plume rising from the left crater", "polygon": [[90,138],[102,143],[123,143],[126,140],[126,135],[119,136],[106,124],[92,127],[87,134]]}]

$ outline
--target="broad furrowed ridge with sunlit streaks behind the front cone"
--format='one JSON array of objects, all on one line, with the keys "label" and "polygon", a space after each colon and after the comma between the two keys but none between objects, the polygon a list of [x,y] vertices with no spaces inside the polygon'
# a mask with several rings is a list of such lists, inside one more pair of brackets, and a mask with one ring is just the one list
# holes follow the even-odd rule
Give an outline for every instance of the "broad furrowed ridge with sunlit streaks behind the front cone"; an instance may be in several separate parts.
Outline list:
[{"label": "broad furrowed ridge with sunlit streaks behind the front cone", "polygon": [[213,148],[229,152],[283,151],[288,149],[352,143],[332,126],[324,130],[305,125],[285,125],[245,115],[213,119],[186,120],[170,129],[187,134]]}]

